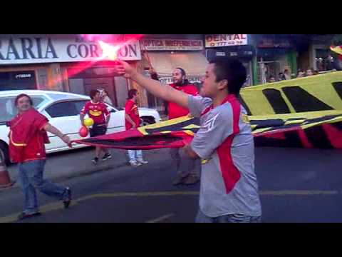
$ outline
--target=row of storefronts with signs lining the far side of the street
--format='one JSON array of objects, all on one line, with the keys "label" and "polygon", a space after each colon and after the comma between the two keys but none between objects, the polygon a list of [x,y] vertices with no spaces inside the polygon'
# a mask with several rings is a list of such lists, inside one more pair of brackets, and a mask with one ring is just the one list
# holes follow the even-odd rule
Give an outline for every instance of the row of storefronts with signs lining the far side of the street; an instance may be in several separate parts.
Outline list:
[{"label": "row of storefronts with signs lining the far side of the street", "polygon": [[150,76],[172,83],[172,71],[181,67],[187,79],[199,84],[208,61],[235,56],[247,68],[244,86],[264,84],[270,76],[279,80],[284,70],[295,78],[298,69],[332,69],[329,47],[334,35],[293,34],[147,34],[129,35],[0,35],[0,90],[42,89],[89,94],[104,89],[114,106],[123,107],[129,89],[140,91],[140,106],[163,111],[164,104],[134,81],[116,76],[114,62],[103,55],[98,41],[123,44],[121,59]]}]

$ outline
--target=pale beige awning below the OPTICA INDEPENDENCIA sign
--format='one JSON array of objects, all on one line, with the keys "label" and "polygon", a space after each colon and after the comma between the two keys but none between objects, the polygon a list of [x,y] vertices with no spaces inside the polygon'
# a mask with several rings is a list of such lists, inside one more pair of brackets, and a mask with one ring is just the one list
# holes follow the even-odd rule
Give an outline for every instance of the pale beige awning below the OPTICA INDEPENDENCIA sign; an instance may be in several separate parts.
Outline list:
[{"label": "pale beige awning below the OPTICA INDEPENDENCIA sign", "polygon": [[150,59],[152,68],[161,77],[172,76],[172,71],[180,67],[185,70],[187,77],[204,76],[208,61],[200,52],[149,52],[145,57]]}]

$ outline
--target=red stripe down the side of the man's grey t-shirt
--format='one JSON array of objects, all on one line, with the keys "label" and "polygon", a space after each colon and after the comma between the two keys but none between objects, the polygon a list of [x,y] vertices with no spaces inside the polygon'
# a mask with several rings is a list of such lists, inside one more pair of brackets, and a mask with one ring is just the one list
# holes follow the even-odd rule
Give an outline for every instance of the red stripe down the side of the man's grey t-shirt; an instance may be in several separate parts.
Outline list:
[{"label": "red stripe down the side of the man's grey t-shirt", "polygon": [[229,193],[232,191],[237,181],[239,181],[241,174],[237,167],[234,165],[232,158],[232,143],[234,137],[239,133],[239,119],[241,106],[239,101],[234,95],[227,96],[227,99],[223,102],[232,106],[233,112],[233,133],[228,136],[228,138],[222,143],[219,148],[217,148],[217,156],[219,158],[219,166],[222,172],[222,178],[224,181],[224,185],[226,187],[226,192]]}]

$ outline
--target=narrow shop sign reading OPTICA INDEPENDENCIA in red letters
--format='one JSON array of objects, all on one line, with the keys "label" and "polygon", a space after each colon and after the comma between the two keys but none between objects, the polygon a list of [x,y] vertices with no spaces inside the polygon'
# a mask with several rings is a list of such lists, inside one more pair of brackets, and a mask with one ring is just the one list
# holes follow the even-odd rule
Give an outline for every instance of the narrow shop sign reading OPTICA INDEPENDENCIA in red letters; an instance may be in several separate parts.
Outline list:
[{"label": "narrow shop sign reading OPTICA INDEPENDENCIA in red letters", "polygon": [[147,51],[199,51],[203,50],[202,40],[190,39],[142,39],[142,50]]}]

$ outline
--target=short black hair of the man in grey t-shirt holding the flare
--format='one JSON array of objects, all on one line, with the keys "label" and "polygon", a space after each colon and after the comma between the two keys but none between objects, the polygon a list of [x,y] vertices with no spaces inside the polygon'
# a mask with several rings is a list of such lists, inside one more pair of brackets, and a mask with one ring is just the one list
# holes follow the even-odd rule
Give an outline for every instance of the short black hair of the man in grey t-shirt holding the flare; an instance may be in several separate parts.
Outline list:
[{"label": "short black hair of the man in grey t-shirt holding the flare", "polygon": [[236,58],[212,60],[210,64],[214,64],[213,71],[216,82],[227,79],[229,94],[239,96],[240,89],[247,79],[247,70],[244,64]]}]

